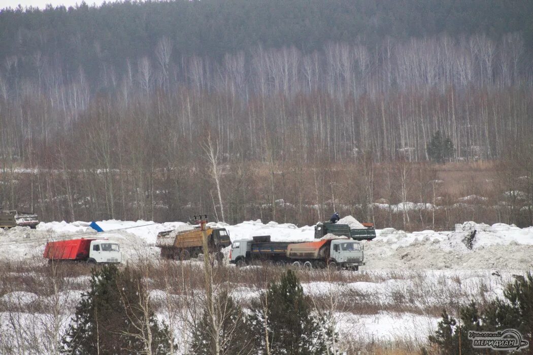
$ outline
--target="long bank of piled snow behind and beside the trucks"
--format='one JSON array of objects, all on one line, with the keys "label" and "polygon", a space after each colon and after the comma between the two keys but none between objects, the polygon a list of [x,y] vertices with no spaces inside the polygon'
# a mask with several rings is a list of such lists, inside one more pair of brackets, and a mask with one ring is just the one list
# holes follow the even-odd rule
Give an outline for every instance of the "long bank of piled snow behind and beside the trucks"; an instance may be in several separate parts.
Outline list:
[{"label": "long bank of piled snow behind and beside the trucks", "polygon": [[[343,218],[353,227],[360,227],[351,216]],[[49,240],[70,237],[106,237],[118,242],[123,259],[135,258],[149,252],[157,257],[157,234],[174,228],[192,228],[182,222],[119,221],[97,222],[104,230],[96,233],[89,222],[41,222],[37,229],[15,227],[0,230],[0,260],[24,259],[42,254]],[[228,229],[232,241],[251,239],[253,236],[270,235],[272,241],[311,241],[314,227],[297,227],[261,220],[244,221],[237,225],[210,223],[211,226]],[[467,247],[467,238],[476,234]],[[475,222],[457,224],[449,232],[404,232],[393,228],[378,229],[377,237],[364,242],[365,269],[530,269],[533,264],[533,227],[518,228],[502,223],[492,226]]]}]

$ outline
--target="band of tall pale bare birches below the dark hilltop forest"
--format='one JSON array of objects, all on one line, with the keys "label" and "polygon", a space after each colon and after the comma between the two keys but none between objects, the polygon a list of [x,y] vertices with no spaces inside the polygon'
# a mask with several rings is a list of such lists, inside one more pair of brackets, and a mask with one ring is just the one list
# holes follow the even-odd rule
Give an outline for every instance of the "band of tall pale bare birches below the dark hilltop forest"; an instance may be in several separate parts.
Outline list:
[{"label": "band of tall pale bare birches below the dark hilltop forest", "polygon": [[93,94],[82,69],[65,77],[46,61],[33,77],[0,81],[4,155],[26,161],[29,141],[47,145],[109,114],[130,124],[144,116],[181,144],[209,127],[224,154],[253,160],[266,159],[265,142],[276,159],[297,148],[306,160],[365,151],[378,161],[427,160],[437,130],[456,147],[452,160],[494,159],[531,137],[533,72],[518,34],[497,43],[483,35],[387,40],[377,51],[330,43],[308,55],[257,47],[222,64],[199,56],[174,63],[165,38],[157,48],[158,62],[139,58],[124,76],[104,65],[107,93]]}]

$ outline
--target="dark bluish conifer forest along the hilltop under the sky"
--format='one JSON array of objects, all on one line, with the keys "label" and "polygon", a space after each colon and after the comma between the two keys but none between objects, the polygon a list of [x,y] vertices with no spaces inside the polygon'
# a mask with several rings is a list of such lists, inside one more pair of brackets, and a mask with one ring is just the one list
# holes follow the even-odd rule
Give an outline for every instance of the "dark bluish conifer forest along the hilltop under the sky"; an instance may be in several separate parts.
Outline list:
[{"label": "dark bluish conifer forest along the hilltop under the sky", "polygon": [[501,0],[178,0],[19,8],[0,11],[0,62],[18,58],[24,62],[19,73],[29,72],[30,58],[40,54],[64,76],[82,68],[92,84],[100,85],[103,65],[122,76],[127,59],[155,60],[163,37],[172,44],[169,54],[176,63],[191,55],[221,61],[226,53],[259,44],[312,53],[328,42],[359,40],[375,48],[387,37],[403,42],[443,33],[453,38],[484,33],[499,40],[521,32],[532,48],[531,14],[528,1]]}]

